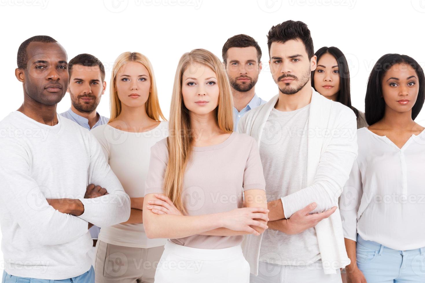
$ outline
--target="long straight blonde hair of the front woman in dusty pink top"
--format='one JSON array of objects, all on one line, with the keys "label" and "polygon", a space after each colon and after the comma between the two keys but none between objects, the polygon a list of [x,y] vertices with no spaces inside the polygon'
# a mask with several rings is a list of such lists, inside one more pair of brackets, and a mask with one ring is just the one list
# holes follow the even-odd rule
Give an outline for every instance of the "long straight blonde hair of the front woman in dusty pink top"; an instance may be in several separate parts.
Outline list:
[{"label": "long straight blonde hair of the front woman in dusty pink top", "polygon": [[227,73],[220,59],[205,49],[194,49],[184,53],[178,62],[176,76],[174,77],[170,106],[170,134],[167,138],[169,158],[164,177],[164,193],[182,213],[186,212],[182,200],[183,177],[190,160],[194,138],[191,131],[189,110],[183,102],[181,84],[184,71],[192,63],[203,64],[215,72],[219,87],[218,107],[215,110],[218,126],[226,133],[233,131],[232,92]]}]

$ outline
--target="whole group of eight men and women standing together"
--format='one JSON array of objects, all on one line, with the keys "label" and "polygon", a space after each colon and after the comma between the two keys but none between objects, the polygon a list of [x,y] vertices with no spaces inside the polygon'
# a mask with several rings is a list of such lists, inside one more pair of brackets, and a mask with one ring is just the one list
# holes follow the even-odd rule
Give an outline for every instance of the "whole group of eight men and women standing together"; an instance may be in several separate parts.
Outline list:
[{"label": "whole group of eight men and women standing together", "polygon": [[272,99],[239,34],[222,60],[181,56],[167,121],[141,53],[116,59],[105,118],[99,59],[24,41],[23,104],[0,122],[2,283],[424,282],[422,68],[383,55],[363,113],[344,54],[314,53],[305,23],[267,45]]}]

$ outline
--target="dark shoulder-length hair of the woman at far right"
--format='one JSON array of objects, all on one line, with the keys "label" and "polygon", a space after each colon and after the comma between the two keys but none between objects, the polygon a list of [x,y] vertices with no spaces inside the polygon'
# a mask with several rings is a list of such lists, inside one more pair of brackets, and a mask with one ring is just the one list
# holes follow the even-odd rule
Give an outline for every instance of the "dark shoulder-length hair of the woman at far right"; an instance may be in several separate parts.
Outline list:
[{"label": "dark shoulder-length hair of the woman at far right", "polygon": [[415,71],[419,81],[418,98],[412,107],[412,119],[414,120],[422,109],[425,100],[425,77],[422,67],[410,56],[400,54],[385,54],[374,65],[368,79],[365,97],[366,122],[372,125],[384,117],[385,100],[382,98],[382,78],[395,64],[408,64]]}]

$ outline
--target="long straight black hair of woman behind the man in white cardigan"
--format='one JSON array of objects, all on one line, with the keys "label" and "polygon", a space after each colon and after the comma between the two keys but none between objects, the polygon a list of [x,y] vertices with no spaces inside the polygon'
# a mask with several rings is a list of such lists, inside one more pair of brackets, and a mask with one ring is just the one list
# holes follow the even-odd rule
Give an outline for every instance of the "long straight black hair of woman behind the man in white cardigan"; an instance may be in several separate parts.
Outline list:
[{"label": "long straight black hair of woman behind the man in white cardigan", "polygon": [[[319,62],[320,57],[323,54],[331,54],[337,60],[338,64],[338,74],[340,75],[340,91],[338,93],[337,101],[344,104],[348,108],[352,109],[356,117],[359,118],[359,110],[351,105],[351,94],[350,94],[350,71],[348,70],[347,59],[344,56],[344,53],[334,46],[331,47],[322,47],[314,53],[317,56],[317,62]],[[312,87],[314,87],[314,73],[316,70],[312,71]],[[314,87],[314,90],[316,88]],[[317,91],[317,90],[316,90]]]}]

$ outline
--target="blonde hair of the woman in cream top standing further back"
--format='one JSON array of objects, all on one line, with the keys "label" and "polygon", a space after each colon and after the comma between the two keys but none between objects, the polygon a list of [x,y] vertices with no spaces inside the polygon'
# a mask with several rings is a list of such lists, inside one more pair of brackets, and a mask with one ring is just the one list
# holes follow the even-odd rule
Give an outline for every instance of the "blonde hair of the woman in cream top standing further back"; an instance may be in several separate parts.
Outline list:
[{"label": "blonde hair of the woman in cream top standing further back", "polygon": [[159,107],[158,90],[156,89],[155,75],[153,73],[153,67],[152,64],[150,64],[149,59],[147,59],[146,56],[139,52],[124,52],[118,56],[112,68],[110,84],[111,118],[109,118],[109,123],[111,123],[113,120],[116,120],[116,117],[121,113],[121,101],[119,100],[118,92],[116,91],[116,74],[118,73],[119,68],[129,62],[141,63],[144,67],[146,67],[149,73],[150,90],[147,101],[144,104],[147,116],[156,121],[159,121],[160,117],[163,120],[166,120],[164,118],[164,115],[162,114],[161,108]]}]

